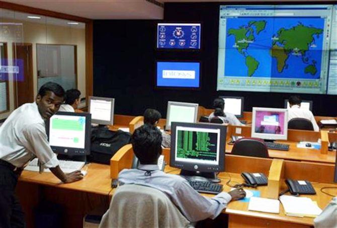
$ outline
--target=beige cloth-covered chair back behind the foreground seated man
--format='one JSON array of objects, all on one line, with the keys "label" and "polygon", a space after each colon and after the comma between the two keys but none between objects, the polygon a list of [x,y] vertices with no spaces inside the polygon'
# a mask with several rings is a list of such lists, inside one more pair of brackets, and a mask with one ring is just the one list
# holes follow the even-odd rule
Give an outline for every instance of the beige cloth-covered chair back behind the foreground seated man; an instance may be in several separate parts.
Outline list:
[{"label": "beige cloth-covered chair back behind the foreground seated man", "polygon": [[187,227],[189,224],[163,192],[125,184],[116,189],[99,227]]}]

